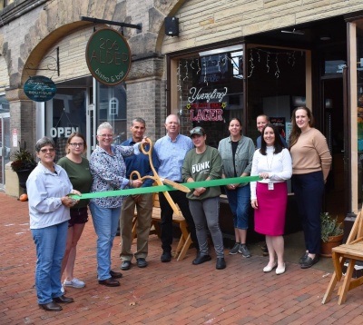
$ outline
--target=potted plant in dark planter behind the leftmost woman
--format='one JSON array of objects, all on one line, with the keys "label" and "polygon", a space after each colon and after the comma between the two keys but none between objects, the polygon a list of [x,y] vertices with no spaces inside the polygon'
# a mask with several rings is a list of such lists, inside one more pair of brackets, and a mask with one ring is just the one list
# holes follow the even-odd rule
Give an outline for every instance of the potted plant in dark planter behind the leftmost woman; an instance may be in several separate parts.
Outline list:
[{"label": "potted plant in dark planter behind the leftmost woman", "polygon": [[13,162],[10,166],[17,173],[19,185],[26,193],[26,180],[36,166],[34,155],[26,149],[26,143],[24,142],[24,146],[19,143],[19,150],[13,153],[11,157]]}]

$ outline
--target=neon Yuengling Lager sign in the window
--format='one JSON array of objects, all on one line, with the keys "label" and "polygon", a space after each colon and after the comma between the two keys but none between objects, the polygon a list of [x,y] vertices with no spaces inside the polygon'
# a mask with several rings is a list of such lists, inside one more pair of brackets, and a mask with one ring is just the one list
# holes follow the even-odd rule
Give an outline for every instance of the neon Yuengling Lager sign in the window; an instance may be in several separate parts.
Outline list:
[{"label": "neon Yuengling Lager sign in the window", "polygon": [[191,121],[194,122],[216,122],[223,121],[223,110],[227,102],[222,102],[228,93],[228,88],[221,90],[213,89],[203,92],[202,88],[191,87],[188,97],[187,109],[191,112]]}]

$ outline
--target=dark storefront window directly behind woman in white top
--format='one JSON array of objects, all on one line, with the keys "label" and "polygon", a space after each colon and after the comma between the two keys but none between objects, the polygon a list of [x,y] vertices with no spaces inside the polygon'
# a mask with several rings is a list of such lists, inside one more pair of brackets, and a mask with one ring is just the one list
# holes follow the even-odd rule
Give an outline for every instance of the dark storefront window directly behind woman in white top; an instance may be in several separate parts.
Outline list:
[{"label": "dark storefront window directly behind woman in white top", "polygon": [[266,114],[288,142],[291,113],[306,104],[305,52],[250,44],[247,54],[247,135],[256,142],[256,118]]}]

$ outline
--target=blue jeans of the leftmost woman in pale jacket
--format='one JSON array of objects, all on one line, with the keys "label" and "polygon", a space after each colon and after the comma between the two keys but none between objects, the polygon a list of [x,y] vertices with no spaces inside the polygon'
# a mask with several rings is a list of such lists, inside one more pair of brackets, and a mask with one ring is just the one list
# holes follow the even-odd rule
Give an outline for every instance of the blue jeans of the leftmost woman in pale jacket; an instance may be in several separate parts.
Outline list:
[{"label": "blue jeans of the leftmost woman in pale jacket", "polygon": [[67,241],[68,222],[32,229],[36,248],[35,289],[39,304],[49,303],[62,293],[61,268]]}]

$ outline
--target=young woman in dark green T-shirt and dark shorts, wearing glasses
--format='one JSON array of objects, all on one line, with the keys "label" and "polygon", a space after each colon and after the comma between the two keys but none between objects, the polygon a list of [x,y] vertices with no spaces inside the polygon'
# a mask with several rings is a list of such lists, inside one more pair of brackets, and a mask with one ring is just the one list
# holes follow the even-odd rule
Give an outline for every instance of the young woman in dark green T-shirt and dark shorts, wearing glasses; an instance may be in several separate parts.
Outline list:
[{"label": "young woman in dark green T-shirt and dark shorts, wearing glasses", "polygon": [[[83,157],[87,144],[81,133],[72,133],[65,145],[65,153],[57,163],[67,172],[74,188],[80,192],[90,192],[92,175],[90,163]],[[67,246],[62,262],[62,274],[65,271],[64,287],[83,288],[85,283],[74,278],[74,261],[77,242],[81,238],[85,222],[88,222],[87,205],[89,200],[80,200],[71,208],[71,220],[68,222]]]}]

